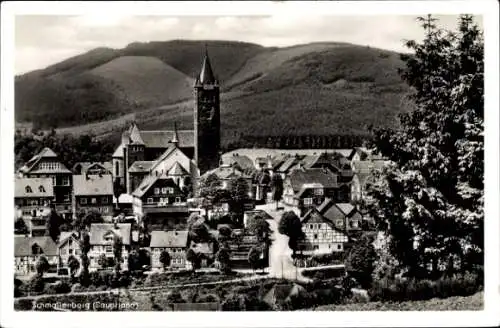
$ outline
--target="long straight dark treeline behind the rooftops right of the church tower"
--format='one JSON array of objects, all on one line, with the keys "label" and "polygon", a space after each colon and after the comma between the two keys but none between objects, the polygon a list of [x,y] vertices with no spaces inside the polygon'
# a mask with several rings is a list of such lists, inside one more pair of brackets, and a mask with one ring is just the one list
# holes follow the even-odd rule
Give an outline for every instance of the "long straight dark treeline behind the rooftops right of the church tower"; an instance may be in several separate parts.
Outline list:
[{"label": "long straight dark treeline behind the rooftops right of the church tower", "polygon": [[361,147],[370,139],[369,135],[282,135],[282,136],[240,136],[229,142],[225,148],[278,148],[278,149],[345,149]]}]

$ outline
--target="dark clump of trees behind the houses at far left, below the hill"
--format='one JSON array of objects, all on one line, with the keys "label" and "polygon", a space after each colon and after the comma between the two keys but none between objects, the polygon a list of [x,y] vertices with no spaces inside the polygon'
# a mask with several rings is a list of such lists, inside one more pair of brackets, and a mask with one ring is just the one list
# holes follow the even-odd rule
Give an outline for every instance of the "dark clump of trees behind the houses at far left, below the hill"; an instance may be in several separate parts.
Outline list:
[{"label": "dark clump of trees behind the houses at far left, below the hill", "polygon": [[59,159],[71,169],[78,162],[104,162],[111,160],[116,143],[108,139],[98,140],[91,135],[73,136],[48,133],[22,133],[14,135],[14,154],[16,170],[38,154],[43,148],[52,149]]}]

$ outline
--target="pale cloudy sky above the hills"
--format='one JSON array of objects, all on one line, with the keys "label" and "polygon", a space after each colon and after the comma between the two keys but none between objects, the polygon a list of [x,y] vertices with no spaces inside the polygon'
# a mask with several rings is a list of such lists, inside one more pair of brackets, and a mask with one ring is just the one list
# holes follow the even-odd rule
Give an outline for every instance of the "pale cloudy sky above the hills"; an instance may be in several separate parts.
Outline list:
[{"label": "pale cloudy sky above the hills", "polygon": [[[436,15],[439,26],[455,29],[457,16]],[[481,17],[476,17],[482,27]],[[97,47],[132,42],[233,40],[285,47],[320,41],[349,42],[407,51],[403,40],[421,40],[416,15],[334,16],[130,16],[107,12],[80,16],[17,15],[15,73],[42,69]]]}]

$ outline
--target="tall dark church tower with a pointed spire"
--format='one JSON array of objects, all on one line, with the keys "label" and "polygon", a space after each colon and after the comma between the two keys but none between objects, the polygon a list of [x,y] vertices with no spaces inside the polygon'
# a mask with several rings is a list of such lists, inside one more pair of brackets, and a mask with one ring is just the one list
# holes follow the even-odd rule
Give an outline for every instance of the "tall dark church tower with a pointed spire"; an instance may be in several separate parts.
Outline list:
[{"label": "tall dark church tower with a pointed spire", "polygon": [[219,81],[214,76],[206,49],[194,94],[194,160],[203,174],[219,166],[220,151]]}]

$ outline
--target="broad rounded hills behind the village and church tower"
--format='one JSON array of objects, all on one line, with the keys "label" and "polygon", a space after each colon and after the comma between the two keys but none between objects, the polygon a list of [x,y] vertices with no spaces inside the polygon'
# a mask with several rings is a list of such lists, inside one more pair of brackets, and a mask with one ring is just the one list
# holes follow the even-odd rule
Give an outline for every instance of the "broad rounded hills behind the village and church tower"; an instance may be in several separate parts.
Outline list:
[{"label": "broad rounded hills behind the village and church tower", "polygon": [[[16,77],[17,122],[114,135],[192,126],[192,85],[205,44],[221,81],[223,144],[242,136],[365,135],[411,108],[399,54],[346,43],[266,48],[230,41],[98,48]],[[113,124],[103,122],[114,119]]]}]

